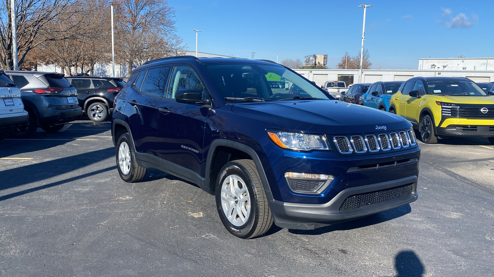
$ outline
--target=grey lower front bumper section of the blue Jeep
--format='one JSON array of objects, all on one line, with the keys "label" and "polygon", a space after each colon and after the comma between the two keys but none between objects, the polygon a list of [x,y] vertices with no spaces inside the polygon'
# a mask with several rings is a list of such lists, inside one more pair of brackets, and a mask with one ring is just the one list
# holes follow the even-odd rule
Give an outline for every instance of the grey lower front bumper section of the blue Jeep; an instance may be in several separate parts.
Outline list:
[{"label": "grey lower front bumper section of the blue Jeep", "polygon": [[[382,196],[381,192],[398,190],[405,186],[407,188],[411,186],[411,193],[408,196],[391,198],[381,202],[377,198],[372,201],[372,204],[366,204],[370,202],[370,198],[364,197],[368,202],[363,202],[364,205],[361,207],[341,210],[343,203],[349,197],[361,194]],[[412,203],[417,200],[417,197],[417,176],[410,176],[393,181],[347,188],[325,204],[298,204],[273,200],[270,201],[270,209],[275,223],[279,227],[311,230],[397,208]]]}]

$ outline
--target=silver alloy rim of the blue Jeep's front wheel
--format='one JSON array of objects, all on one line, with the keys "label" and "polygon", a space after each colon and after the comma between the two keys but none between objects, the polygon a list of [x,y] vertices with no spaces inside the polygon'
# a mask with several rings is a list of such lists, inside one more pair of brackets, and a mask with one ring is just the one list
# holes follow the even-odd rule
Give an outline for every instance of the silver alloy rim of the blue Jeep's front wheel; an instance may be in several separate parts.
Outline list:
[{"label": "silver alloy rim of the blue Jeep's front wheel", "polygon": [[234,226],[247,223],[250,215],[250,195],[245,181],[231,174],[221,184],[221,205],[226,218]]}]

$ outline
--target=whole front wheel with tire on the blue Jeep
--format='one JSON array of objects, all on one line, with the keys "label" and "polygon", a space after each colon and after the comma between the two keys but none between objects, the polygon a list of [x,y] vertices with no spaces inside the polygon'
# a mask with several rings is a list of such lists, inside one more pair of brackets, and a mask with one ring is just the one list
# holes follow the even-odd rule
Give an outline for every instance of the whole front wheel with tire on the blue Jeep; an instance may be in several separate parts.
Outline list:
[{"label": "whole front wheel with tire on the blue Jeep", "polygon": [[[236,186],[231,186],[232,182]],[[215,198],[221,222],[236,237],[253,239],[273,225],[268,200],[252,160],[231,161],[221,169]]]}]

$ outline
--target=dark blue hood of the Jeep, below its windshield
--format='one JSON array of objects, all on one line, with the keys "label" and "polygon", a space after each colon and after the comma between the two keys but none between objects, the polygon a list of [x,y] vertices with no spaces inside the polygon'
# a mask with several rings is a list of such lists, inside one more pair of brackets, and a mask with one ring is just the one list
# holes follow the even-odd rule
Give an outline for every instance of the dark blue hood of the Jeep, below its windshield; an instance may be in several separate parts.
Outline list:
[{"label": "dark blue hood of the Jeep, below its windshield", "polygon": [[272,122],[284,130],[317,134],[376,133],[376,126],[386,126],[386,131],[412,127],[401,116],[334,100],[233,104],[232,111]]}]

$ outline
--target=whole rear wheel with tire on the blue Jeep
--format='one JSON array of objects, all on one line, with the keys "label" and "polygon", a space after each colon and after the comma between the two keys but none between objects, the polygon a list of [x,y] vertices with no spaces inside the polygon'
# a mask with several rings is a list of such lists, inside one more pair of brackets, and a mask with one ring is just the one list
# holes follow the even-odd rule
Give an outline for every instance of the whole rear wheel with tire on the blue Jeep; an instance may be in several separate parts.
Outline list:
[{"label": "whole rear wheel with tire on the blue Jeep", "polygon": [[127,183],[139,182],[146,175],[146,169],[139,166],[135,160],[135,153],[127,133],[117,140],[115,151],[119,175]]}]

